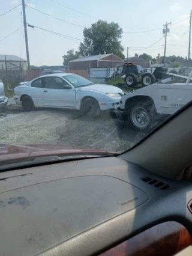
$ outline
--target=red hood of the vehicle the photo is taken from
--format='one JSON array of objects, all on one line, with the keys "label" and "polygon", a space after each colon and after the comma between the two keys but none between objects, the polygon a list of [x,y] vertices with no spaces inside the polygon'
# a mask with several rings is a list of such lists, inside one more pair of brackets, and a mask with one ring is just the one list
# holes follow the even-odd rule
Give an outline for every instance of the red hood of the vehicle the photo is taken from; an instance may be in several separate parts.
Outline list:
[{"label": "red hood of the vehicle the photo is taken from", "polygon": [[[0,161],[8,159],[20,159],[25,157],[36,157],[36,156],[50,156],[50,155],[69,155],[74,154],[89,154],[89,153],[98,153],[104,154],[107,151],[96,150],[89,148],[79,148],[68,145],[59,145],[59,144],[28,144],[28,145],[8,145],[0,144]],[[108,152],[109,153],[109,152]],[[110,152],[114,153],[115,152]]]}]

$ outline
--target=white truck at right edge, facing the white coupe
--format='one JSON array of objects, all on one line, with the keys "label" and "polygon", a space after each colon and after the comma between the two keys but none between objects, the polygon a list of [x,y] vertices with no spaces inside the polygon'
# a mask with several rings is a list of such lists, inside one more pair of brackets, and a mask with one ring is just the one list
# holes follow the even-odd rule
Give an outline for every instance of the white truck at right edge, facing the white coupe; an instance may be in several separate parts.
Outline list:
[{"label": "white truck at right edge, facing the white coupe", "polygon": [[170,76],[185,79],[185,83],[156,82],[122,96],[121,119],[137,130],[148,130],[155,118],[172,115],[192,100],[192,70],[188,76],[167,72]]}]

